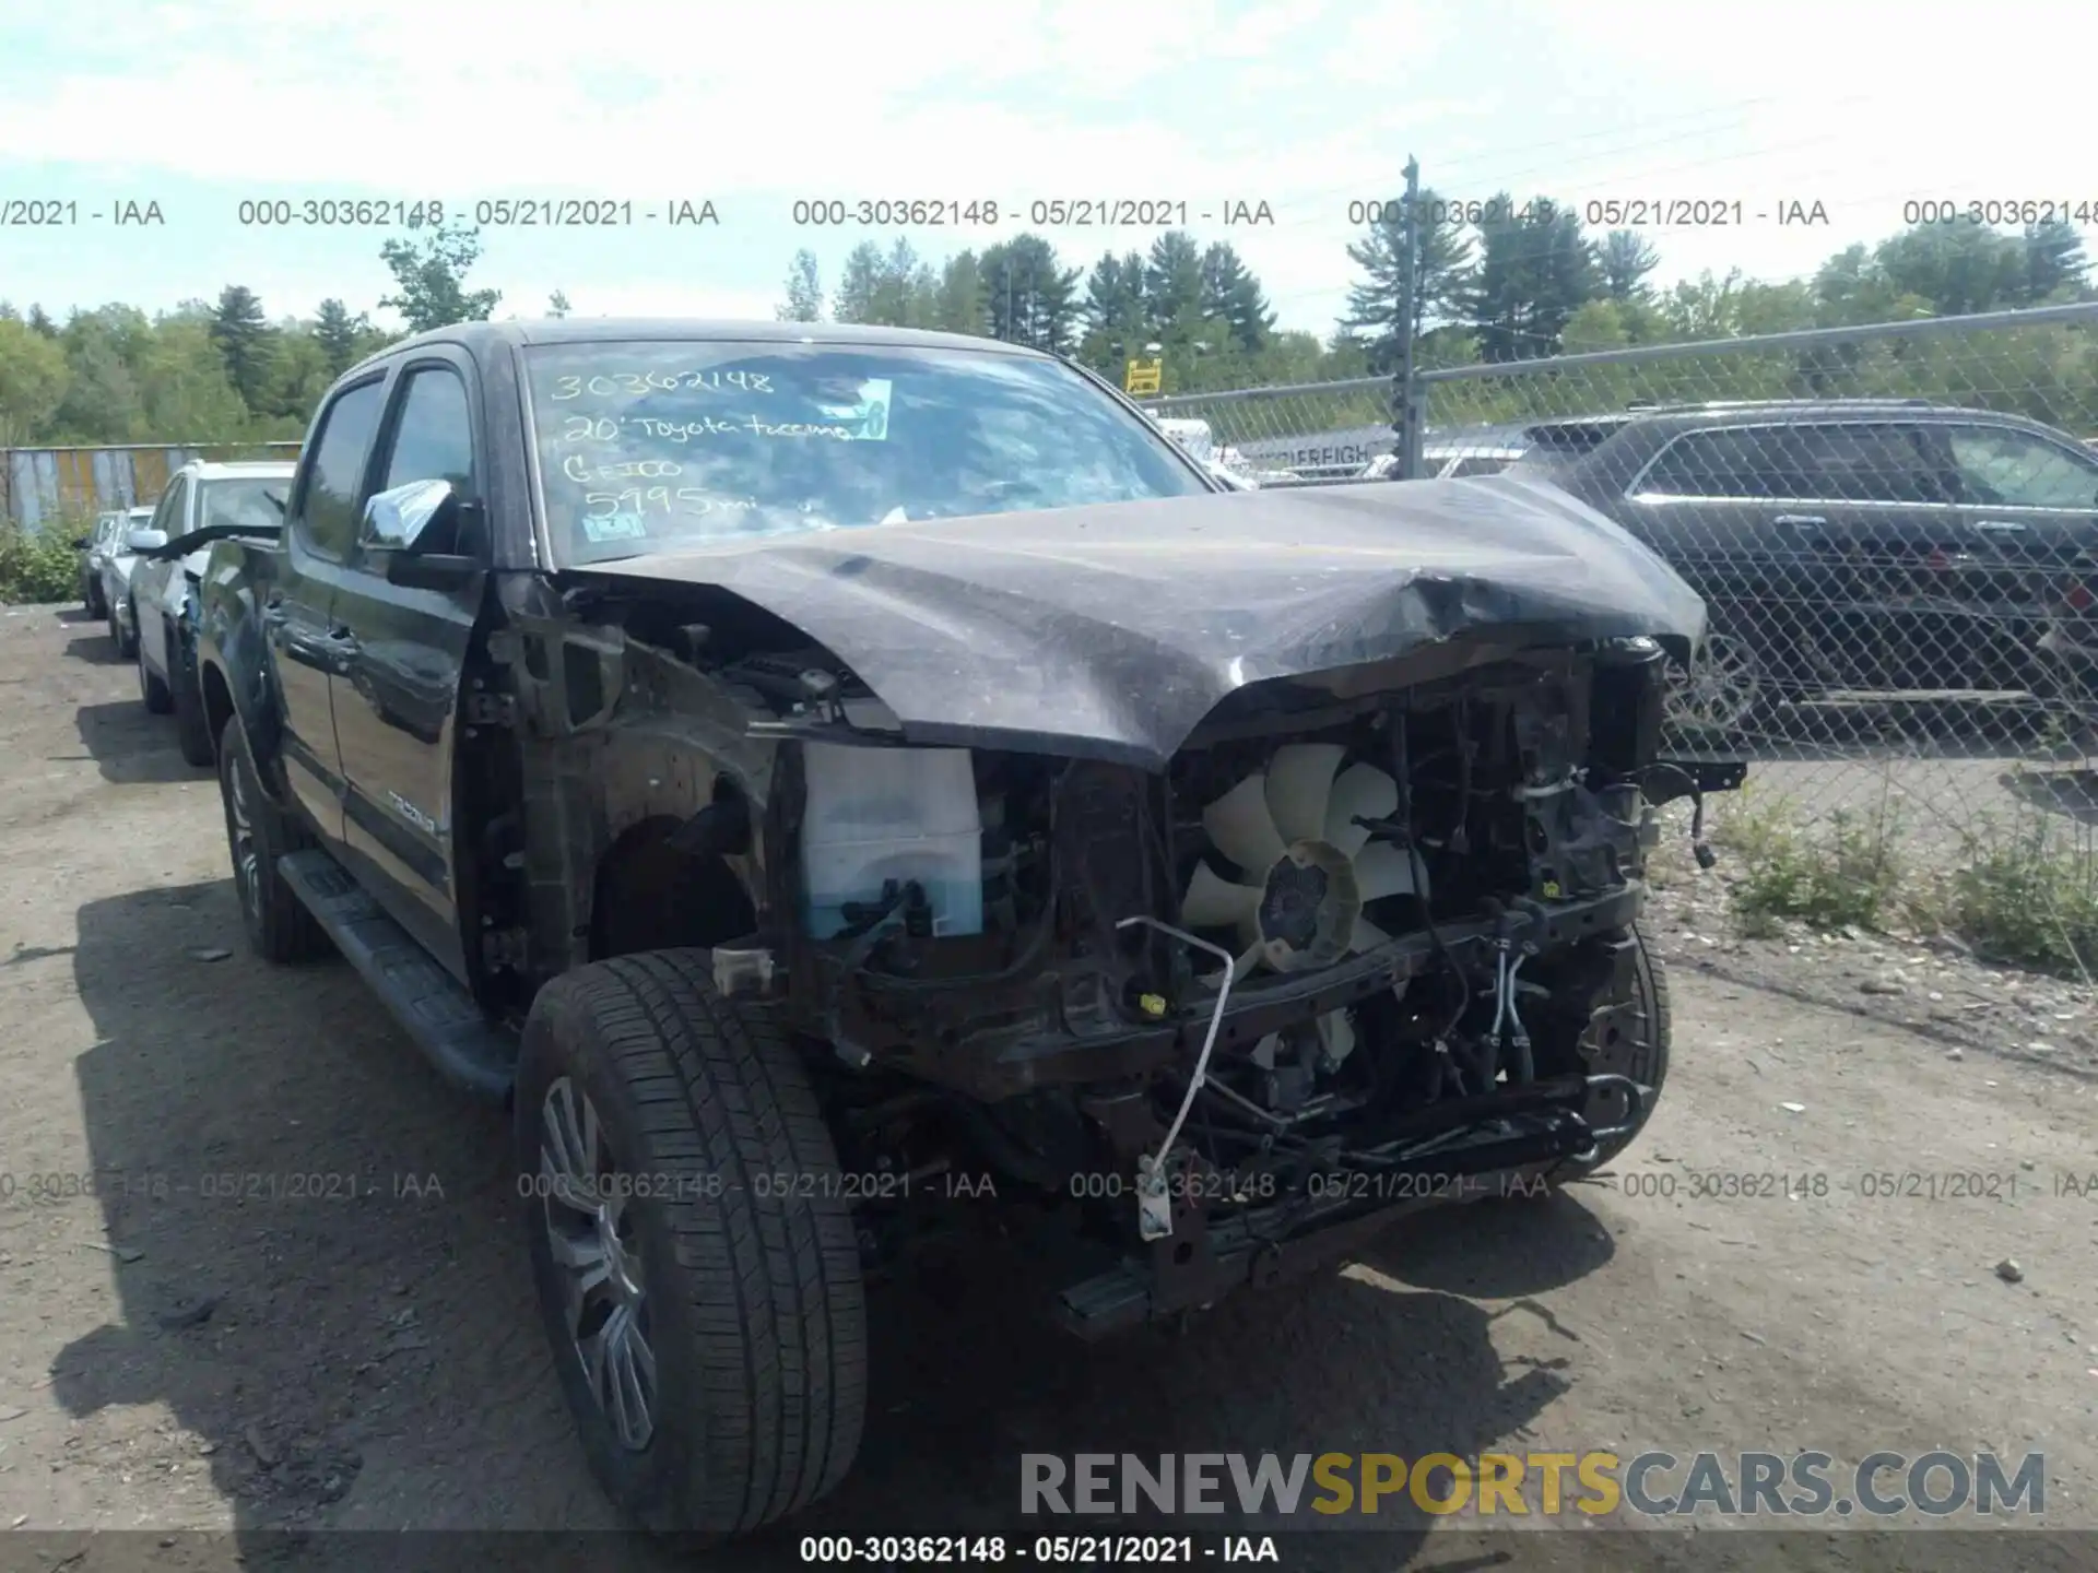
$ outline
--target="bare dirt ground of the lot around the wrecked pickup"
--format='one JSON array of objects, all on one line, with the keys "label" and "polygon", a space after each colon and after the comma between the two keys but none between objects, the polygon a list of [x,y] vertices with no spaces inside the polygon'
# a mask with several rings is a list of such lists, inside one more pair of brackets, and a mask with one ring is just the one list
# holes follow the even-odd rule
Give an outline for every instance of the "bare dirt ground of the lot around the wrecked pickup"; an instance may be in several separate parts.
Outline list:
[{"label": "bare dirt ground of the lot around the wrecked pickup", "polygon": [[[1676,1061],[1615,1181],[1401,1225],[1343,1273],[1099,1351],[1032,1330],[1018,1271],[900,1286],[875,1300],[858,1472],[795,1533],[900,1504],[923,1531],[999,1529],[1020,1451],[1101,1445],[2046,1449],[2043,1523],[2098,1529],[2098,1193],[2060,1189],[2098,1170],[2098,1065],[2060,1019],[2088,990],[2001,1007],[2020,992],[1957,956],[1750,946],[1716,908],[1708,877],[1657,917]],[[1859,992],[1897,969],[1901,992]],[[1962,990],[2010,1015],[1976,1030]],[[25,1567],[88,1529],[231,1567],[285,1527],[611,1527],[501,1116],[457,1103],[340,963],[248,954],[216,786],[80,612],[0,612],[0,1563],[10,1525],[42,1535]],[[2027,1017],[2058,1047],[2031,1051]],[[1691,1200],[1691,1170],[1827,1191]],[[2004,1179],[1859,1193],[1905,1170]],[[348,1179],[290,1200],[296,1175]],[[1286,1565],[1483,1565],[1460,1525],[1385,1523]],[[1882,1565],[1832,1533],[1857,1523],[1783,1565]],[[793,1560],[776,1537],[709,1565]]]}]

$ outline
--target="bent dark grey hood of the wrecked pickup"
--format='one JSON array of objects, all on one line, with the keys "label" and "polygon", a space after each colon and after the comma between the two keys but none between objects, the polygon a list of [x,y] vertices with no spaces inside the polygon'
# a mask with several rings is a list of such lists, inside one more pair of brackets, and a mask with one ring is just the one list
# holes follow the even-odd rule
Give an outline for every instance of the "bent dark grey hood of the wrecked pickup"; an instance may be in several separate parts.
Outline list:
[{"label": "bent dark grey hood of the wrecked pickup", "polygon": [[1618,524],[1500,476],[810,531],[575,577],[751,602],[845,661],[911,742],[1146,770],[1248,684],[1452,642],[1704,633],[1697,594]]}]

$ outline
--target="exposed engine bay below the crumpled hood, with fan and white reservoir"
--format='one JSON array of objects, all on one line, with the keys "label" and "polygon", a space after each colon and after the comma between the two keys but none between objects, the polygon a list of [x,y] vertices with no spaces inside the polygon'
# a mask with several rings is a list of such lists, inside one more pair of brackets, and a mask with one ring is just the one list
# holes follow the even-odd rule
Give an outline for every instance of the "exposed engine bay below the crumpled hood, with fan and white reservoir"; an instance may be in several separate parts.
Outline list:
[{"label": "exposed engine bay below the crumpled hood, with fan and white reservoir", "polygon": [[[1248,694],[1164,776],[881,747],[879,703],[818,656],[722,677],[804,738],[768,816],[799,921],[770,933],[814,979],[787,1003],[835,1049],[856,1162],[988,1172],[1236,1275],[1234,1227],[1592,1164],[1643,1120],[1632,921],[1647,793],[1678,795],[1649,780],[1674,770],[1653,642]],[[854,795],[850,835],[812,837]],[[1133,1315],[1116,1296],[1160,1309],[1110,1271],[1074,1321]]]}]

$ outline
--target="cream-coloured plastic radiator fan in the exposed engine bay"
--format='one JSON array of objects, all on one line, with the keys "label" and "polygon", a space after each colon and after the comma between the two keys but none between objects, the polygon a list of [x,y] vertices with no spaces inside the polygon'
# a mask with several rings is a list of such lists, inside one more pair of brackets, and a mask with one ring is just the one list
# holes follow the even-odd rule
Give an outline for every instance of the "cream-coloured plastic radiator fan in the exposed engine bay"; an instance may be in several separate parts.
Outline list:
[{"label": "cream-coloured plastic radiator fan in the exposed engine bay", "polygon": [[1389,935],[1362,910],[1385,896],[1427,898],[1425,872],[1389,841],[1370,841],[1357,818],[1380,820],[1399,805],[1391,774],[1370,763],[1341,770],[1336,742],[1290,742],[1202,810],[1211,845],[1238,864],[1223,879],[1196,864],[1181,919],[1198,929],[1236,929],[1232,977],[1328,967]]}]

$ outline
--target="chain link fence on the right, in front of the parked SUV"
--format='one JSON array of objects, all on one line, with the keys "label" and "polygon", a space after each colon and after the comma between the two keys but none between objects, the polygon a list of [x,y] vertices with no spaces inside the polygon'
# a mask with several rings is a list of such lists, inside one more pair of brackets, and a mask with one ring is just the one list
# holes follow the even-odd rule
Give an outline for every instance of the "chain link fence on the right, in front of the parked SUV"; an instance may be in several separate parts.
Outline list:
[{"label": "chain link fence on the right, in front of the parked SUV", "polygon": [[1208,422],[1263,484],[1397,478],[1391,411],[1410,409],[1418,478],[1506,470],[1580,497],[1706,598],[1670,742],[1754,761],[1739,801],[1796,816],[1790,879],[1890,902],[1922,879],[1957,904],[2016,875],[1993,900],[2043,908],[2027,948],[2083,965],[2098,304],[1150,407]]}]

